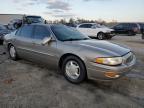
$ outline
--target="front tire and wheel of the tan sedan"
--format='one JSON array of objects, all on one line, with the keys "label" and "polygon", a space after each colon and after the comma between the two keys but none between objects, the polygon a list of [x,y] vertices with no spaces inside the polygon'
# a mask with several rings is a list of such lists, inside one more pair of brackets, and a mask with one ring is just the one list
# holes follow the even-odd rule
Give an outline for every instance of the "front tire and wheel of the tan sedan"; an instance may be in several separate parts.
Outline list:
[{"label": "front tire and wheel of the tan sedan", "polygon": [[78,84],[87,78],[84,63],[76,56],[68,56],[62,63],[64,77],[71,83]]}]

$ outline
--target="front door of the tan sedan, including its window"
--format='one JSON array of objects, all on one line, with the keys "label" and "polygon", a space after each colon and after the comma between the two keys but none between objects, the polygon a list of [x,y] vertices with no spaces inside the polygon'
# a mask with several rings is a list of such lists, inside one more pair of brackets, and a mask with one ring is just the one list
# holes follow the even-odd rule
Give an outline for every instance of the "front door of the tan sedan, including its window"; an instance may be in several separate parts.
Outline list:
[{"label": "front door of the tan sedan, including its window", "polygon": [[[43,45],[42,42],[45,38],[52,37],[52,41]],[[34,29],[34,41],[33,41],[33,55],[38,62],[49,64],[50,66],[56,66],[58,62],[57,58],[57,43],[52,36],[48,26],[37,25]]]}]

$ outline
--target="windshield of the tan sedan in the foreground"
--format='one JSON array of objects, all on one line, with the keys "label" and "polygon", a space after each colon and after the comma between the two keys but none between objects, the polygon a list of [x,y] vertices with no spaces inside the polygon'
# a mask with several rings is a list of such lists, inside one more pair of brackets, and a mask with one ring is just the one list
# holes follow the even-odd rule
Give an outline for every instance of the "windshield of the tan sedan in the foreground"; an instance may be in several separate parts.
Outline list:
[{"label": "windshield of the tan sedan in the foreground", "polygon": [[86,40],[90,39],[88,36],[83,35],[75,28],[67,27],[64,25],[52,25],[51,29],[58,40],[60,41],[73,41],[73,40]]}]

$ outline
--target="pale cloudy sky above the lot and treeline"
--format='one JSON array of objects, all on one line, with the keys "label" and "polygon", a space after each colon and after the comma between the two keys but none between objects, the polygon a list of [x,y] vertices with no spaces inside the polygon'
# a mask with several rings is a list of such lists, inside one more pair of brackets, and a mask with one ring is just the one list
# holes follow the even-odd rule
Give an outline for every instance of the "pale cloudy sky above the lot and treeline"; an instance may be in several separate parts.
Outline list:
[{"label": "pale cloudy sky above the lot and treeline", "polygon": [[144,22],[144,0],[1,0],[0,14],[41,15],[46,20]]}]

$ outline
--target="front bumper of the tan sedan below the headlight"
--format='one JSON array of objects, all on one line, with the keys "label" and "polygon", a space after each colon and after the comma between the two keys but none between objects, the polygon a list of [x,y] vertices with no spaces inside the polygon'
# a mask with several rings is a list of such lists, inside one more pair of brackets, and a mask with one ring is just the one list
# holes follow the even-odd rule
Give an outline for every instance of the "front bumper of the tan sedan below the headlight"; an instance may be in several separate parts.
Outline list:
[{"label": "front bumper of the tan sedan below the headlight", "polygon": [[[133,55],[133,59],[128,64],[122,64],[120,66],[107,66],[102,64],[97,64],[93,62],[89,62],[87,66],[87,75],[90,79],[98,79],[98,80],[113,80],[120,78],[131,71],[133,66],[136,63],[136,57]],[[116,73],[115,77],[107,77],[107,72]]]}]

